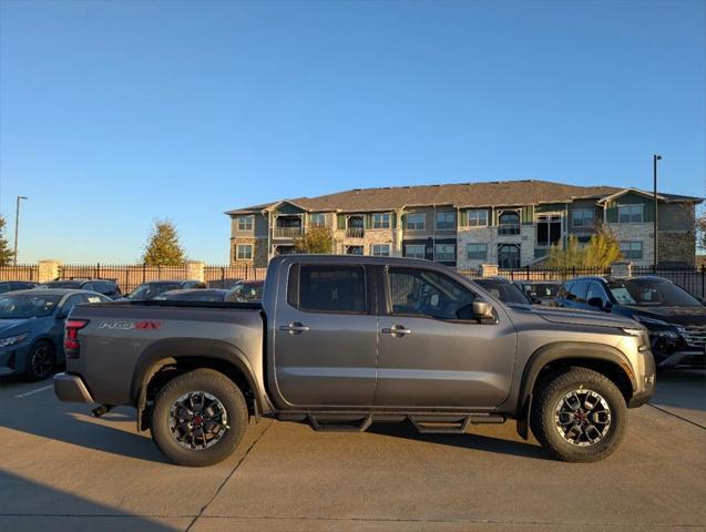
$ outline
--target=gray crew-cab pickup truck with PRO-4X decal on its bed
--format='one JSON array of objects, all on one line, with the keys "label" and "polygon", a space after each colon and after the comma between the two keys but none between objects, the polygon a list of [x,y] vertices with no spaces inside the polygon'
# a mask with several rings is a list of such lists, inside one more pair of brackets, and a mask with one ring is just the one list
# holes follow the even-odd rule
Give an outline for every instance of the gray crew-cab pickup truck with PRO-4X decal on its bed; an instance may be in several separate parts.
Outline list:
[{"label": "gray crew-cab pickup truck with PRO-4X decal on its bed", "polygon": [[100,403],[96,415],[135,407],[139,429],[182,466],[225,459],[260,417],[447,433],[514,419],[554,457],[595,461],[655,386],[636,321],[503,304],[402,258],[279,256],[262,305],[78,306],[64,342],[57,396]]}]

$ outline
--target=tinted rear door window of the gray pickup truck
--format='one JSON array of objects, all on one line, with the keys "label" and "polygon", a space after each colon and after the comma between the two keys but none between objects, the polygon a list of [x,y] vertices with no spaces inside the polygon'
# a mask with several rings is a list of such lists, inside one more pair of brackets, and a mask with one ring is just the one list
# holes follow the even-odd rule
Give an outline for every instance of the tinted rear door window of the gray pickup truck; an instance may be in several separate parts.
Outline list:
[{"label": "tinted rear door window of the gray pickup truck", "polygon": [[311,313],[366,314],[366,276],[361,266],[300,265],[298,290],[289,290],[288,303]]}]

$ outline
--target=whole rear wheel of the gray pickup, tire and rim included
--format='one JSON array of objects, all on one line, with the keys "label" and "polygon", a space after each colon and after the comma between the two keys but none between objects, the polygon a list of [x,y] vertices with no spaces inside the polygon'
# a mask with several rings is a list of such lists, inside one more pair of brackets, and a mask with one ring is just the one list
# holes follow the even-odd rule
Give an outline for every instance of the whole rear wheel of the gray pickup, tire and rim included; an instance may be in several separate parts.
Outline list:
[{"label": "whole rear wheel of the gray pickup, tire and rim included", "polygon": [[204,467],[221,462],[238,446],[248,412],[239,388],[213,369],[170,380],[152,412],[152,438],[174,463]]}]

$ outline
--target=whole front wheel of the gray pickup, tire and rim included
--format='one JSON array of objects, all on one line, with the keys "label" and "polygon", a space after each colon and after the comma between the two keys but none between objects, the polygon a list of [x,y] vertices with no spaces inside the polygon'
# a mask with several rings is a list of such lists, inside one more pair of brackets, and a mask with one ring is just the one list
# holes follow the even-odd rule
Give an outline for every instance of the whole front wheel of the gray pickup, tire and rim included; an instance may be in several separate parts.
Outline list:
[{"label": "whole front wheel of the gray pickup, tire and rim included", "polygon": [[627,406],[615,383],[587,368],[569,368],[539,390],[530,423],[554,458],[595,462],[617,449],[625,433]]}]

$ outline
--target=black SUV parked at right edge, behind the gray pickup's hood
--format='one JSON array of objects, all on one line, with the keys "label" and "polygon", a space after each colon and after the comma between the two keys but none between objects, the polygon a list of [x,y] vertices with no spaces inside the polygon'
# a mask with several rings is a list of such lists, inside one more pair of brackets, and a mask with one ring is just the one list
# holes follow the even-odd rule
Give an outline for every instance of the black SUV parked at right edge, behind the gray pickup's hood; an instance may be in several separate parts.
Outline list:
[{"label": "black SUV parked at right edge, behind the gray pickup's hood", "polygon": [[706,306],[668,279],[577,277],[564,283],[555,300],[640,321],[649,331],[659,368],[706,367]]}]

